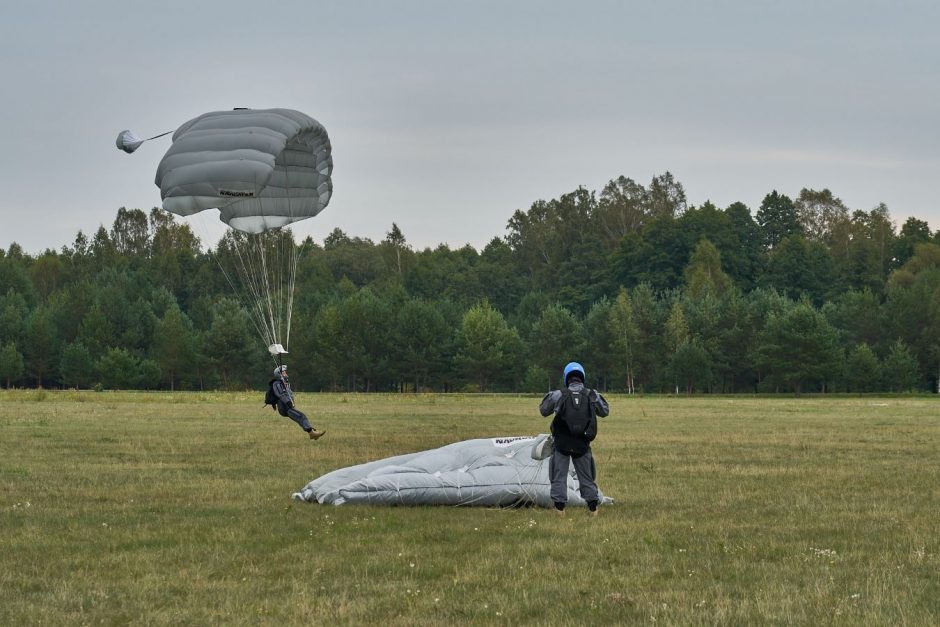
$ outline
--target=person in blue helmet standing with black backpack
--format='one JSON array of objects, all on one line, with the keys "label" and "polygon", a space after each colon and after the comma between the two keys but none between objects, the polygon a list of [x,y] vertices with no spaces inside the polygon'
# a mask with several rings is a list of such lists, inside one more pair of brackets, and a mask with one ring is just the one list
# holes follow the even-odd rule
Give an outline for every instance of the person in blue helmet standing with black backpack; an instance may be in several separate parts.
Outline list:
[{"label": "person in blue helmet standing with black backpack", "polygon": [[568,466],[574,463],[578,475],[578,490],[587,501],[591,516],[597,516],[597,469],[591,454],[591,442],[597,436],[597,417],[610,413],[610,406],[597,390],[584,385],[584,368],[576,361],[565,366],[565,389],[552,390],[539,405],[543,416],[555,414],[552,419],[552,457],[548,462],[548,475],[552,482],[551,498],[555,510],[565,515],[568,503]]}]

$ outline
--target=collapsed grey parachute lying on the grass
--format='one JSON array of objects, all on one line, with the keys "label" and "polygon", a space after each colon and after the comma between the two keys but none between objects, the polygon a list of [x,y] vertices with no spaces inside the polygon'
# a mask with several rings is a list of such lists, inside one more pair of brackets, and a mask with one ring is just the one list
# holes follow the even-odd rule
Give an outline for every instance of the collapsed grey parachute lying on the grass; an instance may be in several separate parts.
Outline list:
[{"label": "collapsed grey parachute lying on the grass", "polygon": [[[342,468],[314,479],[298,501],[342,505],[552,507],[547,435],[487,438]],[[601,495],[601,502],[613,502]],[[568,504],[586,506],[573,468]]]}]

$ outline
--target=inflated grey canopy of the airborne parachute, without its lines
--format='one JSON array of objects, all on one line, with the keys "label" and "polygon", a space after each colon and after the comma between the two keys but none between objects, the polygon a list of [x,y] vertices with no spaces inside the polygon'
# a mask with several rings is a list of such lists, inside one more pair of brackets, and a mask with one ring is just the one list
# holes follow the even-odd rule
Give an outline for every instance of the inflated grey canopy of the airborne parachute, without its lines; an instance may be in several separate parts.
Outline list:
[{"label": "inflated grey canopy of the airborne parachute, without its lines", "polygon": [[157,167],[163,208],[188,216],[217,208],[239,231],[311,218],[333,193],[323,126],[292,109],[205,113],[179,127]]}]

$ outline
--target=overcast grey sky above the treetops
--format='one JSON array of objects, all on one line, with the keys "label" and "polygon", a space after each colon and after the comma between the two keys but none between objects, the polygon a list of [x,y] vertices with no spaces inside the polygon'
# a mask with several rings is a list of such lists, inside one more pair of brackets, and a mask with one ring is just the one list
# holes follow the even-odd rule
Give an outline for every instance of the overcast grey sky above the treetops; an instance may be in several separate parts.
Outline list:
[{"label": "overcast grey sky above the treetops", "polygon": [[[206,111],[326,126],[334,194],[297,232],[480,248],[516,209],[669,170],[690,203],[829,188],[940,229],[940,3],[95,0],[0,6],[0,247],[160,205]],[[194,223],[214,240],[216,219]]]}]

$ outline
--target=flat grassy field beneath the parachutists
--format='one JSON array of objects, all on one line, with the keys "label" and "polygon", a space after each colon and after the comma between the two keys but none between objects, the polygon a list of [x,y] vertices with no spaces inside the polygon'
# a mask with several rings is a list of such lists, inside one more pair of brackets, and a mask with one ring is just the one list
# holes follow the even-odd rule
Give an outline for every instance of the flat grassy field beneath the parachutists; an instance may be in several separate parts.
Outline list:
[{"label": "flat grassy field beneath the parachutists", "polygon": [[612,397],[597,519],[319,506],[536,397],[0,392],[0,624],[940,623],[940,400]]}]

